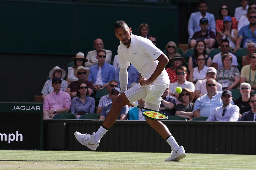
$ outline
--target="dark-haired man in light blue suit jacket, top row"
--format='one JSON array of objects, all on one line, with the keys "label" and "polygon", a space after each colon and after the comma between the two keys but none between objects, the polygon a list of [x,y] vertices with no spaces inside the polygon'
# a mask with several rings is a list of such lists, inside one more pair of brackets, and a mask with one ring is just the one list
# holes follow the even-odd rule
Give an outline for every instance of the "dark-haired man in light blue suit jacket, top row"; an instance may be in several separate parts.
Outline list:
[{"label": "dark-haired man in light blue suit jacket, top row", "polygon": [[206,12],[208,9],[207,3],[205,0],[200,0],[198,2],[198,12],[194,12],[190,15],[189,23],[188,23],[188,32],[189,32],[189,41],[194,35],[195,32],[200,31],[201,27],[199,27],[199,21],[201,18],[208,18],[209,27],[208,30],[211,30],[216,35],[216,22],[214,18],[214,14]]}]

